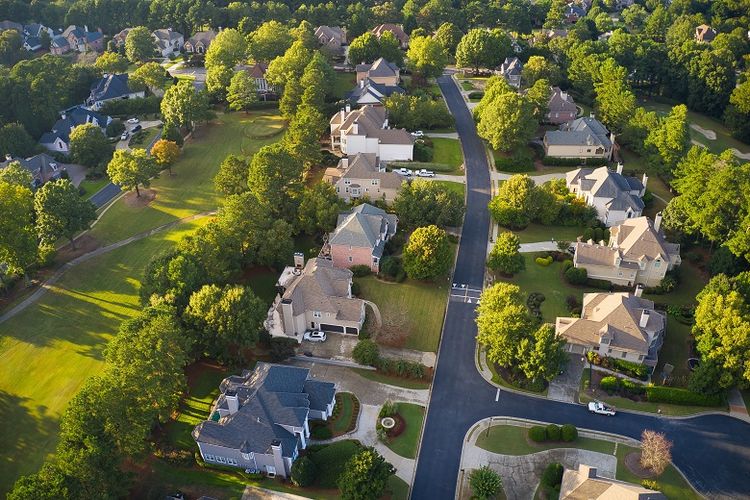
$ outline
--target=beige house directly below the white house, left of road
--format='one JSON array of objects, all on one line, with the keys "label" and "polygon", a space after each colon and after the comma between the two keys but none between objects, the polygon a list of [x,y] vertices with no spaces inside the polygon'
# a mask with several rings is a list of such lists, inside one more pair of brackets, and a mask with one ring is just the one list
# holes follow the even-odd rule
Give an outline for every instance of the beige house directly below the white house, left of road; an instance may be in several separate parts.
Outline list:
[{"label": "beige house directly below the white house, left of road", "polygon": [[362,197],[391,203],[404,181],[397,173],[387,172],[374,153],[341,158],[336,167],[326,169],[323,180],[347,203]]}]

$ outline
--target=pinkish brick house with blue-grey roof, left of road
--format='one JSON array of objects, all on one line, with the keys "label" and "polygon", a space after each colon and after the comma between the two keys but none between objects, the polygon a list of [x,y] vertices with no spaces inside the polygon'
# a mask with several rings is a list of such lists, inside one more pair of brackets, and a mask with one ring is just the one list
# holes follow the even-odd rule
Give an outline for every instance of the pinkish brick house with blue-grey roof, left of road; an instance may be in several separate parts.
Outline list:
[{"label": "pinkish brick house with blue-grey roof, left of road", "polygon": [[323,253],[330,256],[336,267],[367,266],[378,272],[385,244],[396,234],[397,226],[395,215],[367,203],[357,205],[339,214]]}]

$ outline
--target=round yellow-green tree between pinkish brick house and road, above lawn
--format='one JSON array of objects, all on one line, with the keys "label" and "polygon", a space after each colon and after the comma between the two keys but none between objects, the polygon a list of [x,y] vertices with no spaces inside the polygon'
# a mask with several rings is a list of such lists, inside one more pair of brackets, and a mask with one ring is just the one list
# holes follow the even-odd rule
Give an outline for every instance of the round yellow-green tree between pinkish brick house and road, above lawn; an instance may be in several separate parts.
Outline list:
[{"label": "round yellow-green tree between pinkish brick house and road, above lawn", "polygon": [[404,270],[411,279],[447,276],[453,265],[453,248],[445,230],[435,225],[419,227],[404,248]]}]

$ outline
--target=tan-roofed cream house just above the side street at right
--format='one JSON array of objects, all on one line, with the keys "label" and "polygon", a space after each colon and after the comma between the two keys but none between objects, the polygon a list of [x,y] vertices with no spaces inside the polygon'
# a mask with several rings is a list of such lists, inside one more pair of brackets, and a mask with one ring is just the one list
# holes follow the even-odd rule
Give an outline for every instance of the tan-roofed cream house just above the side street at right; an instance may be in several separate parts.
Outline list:
[{"label": "tan-roofed cream house just above the side street at right", "polygon": [[594,351],[600,356],[655,367],[667,327],[665,314],[654,303],[635,294],[585,293],[580,318],[558,317],[555,332],[568,352]]}]

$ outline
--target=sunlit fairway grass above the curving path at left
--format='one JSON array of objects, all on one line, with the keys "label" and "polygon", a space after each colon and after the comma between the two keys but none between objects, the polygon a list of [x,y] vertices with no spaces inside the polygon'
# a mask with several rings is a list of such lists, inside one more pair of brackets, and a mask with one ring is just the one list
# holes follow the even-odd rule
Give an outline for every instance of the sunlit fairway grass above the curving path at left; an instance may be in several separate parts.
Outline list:
[{"label": "sunlit fairway grass above the curving path at left", "polygon": [[200,127],[185,145],[172,168],[174,174],[162,172],[151,183],[156,193],[153,201],[144,206],[134,205],[129,197],[121,198],[94,226],[91,235],[112,243],[175,219],[216,209],[219,195],[213,178],[224,158],[230,153],[252,155],[262,145],[276,140],[252,137],[282,129],[283,122],[275,110],[219,114],[214,122]]}]

